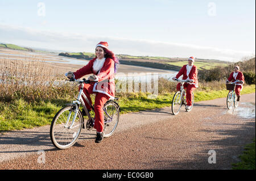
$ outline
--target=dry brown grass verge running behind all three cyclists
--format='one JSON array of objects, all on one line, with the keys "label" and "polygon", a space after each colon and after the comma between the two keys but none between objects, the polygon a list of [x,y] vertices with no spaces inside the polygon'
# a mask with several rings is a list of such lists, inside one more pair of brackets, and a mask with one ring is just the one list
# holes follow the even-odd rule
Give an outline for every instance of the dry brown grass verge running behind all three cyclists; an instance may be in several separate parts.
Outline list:
[{"label": "dry brown grass verge running behind all three cyclists", "polygon": [[[255,65],[255,58],[250,61],[242,61],[239,64],[241,69],[249,69]],[[226,74],[232,71],[225,68]],[[224,68],[222,68],[224,69]],[[252,68],[255,71],[255,67]],[[73,99],[77,95],[77,85],[64,82],[63,85],[56,85],[56,81],[63,81],[63,75],[58,74],[59,69],[56,66],[43,62],[38,57],[29,60],[9,60],[0,58],[0,100],[1,102],[10,102],[16,99],[24,99],[27,102],[38,102],[40,100]],[[204,72],[204,78],[211,76],[208,73],[220,73],[221,77],[214,81],[205,79],[199,80],[197,91],[224,90],[225,78],[224,71],[209,70]],[[59,71],[60,72],[60,71]],[[218,77],[218,75],[216,75]],[[176,82],[168,81],[164,78],[158,79],[158,95],[169,94],[176,91]],[[127,85],[128,86],[128,85]],[[134,89],[134,87],[133,87]],[[116,95],[122,98],[138,96],[138,92],[116,92]],[[139,92],[141,83],[139,83]]]}]

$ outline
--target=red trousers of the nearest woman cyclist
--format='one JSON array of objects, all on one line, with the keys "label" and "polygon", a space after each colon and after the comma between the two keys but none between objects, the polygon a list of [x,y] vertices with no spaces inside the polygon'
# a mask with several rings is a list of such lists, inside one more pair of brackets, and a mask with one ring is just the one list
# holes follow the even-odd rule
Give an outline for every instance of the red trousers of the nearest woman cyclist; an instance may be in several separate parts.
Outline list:
[{"label": "red trousers of the nearest woman cyclist", "polygon": [[[109,96],[100,92],[93,92],[93,84],[85,84],[84,85],[84,94],[88,98],[90,104],[92,104],[92,99],[90,99],[90,94],[96,94],[95,100],[94,100],[94,112],[95,112],[95,122],[94,122],[94,128],[97,130],[97,132],[103,132],[104,131],[104,111],[103,106],[104,104],[109,100]],[[88,110],[91,109],[89,104],[84,99],[85,106]]]}]

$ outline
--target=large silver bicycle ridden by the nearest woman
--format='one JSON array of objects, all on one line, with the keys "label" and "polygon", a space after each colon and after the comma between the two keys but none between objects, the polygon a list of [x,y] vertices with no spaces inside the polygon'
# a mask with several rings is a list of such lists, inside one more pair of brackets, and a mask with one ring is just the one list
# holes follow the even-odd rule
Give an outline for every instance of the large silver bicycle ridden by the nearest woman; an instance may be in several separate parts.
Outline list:
[{"label": "large silver bicycle ridden by the nearest woman", "polygon": [[[65,104],[65,106],[61,108],[53,117],[50,128],[50,136],[52,144],[58,149],[70,148],[76,143],[82,128],[85,129],[86,127],[86,129],[90,131],[94,127],[94,117],[92,116],[94,113],[94,107],[92,104],[90,104],[88,98],[82,91],[84,84],[90,83],[90,81],[86,80],[85,78],[82,79],[82,81],[75,78],[71,78],[66,81],[77,82],[81,85],[81,88],[77,99],[73,101],[72,104]],[[88,111],[82,98],[84,98],[90,105],[90,108],[92,108],[92,113]],[[83,113],[80,110],[81,104],[82,108],[84,108],[86,116],[88,116],[86,123],[84,121]],[[118,98],[109,99],[104,104],[103,110],[104,137],[110,137],[114,133],[115,128],[117,128],[119,121],[120,107],[118,105]]]}]

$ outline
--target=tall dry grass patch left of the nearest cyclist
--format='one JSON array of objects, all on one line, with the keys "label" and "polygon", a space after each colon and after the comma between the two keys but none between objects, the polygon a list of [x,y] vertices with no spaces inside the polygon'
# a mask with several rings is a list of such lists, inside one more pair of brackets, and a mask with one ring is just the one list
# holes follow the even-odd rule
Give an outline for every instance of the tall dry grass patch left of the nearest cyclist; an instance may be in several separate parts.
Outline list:
[{"label": "tall dry grass patch left of the nearest cyclist", "polygon": [[[27,102],[57,98],[61,86],[54,83],[59,75],[54,69],[35,58],[35,60],[9,60],[0,59],[0,99],[10,102],[23,98]],[[61,78],[63,79],[63,78]],[[64,86],[63,86],[64,87]],[[69,87],[70,86],[65,86]]]}]

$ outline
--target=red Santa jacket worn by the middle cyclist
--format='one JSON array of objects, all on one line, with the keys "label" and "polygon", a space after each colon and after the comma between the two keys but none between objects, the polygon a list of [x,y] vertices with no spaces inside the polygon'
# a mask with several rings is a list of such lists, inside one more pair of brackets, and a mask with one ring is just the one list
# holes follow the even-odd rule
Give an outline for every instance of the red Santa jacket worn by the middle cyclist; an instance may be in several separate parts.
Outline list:
[{"label": "red Santa jacket worn by the middle cyclist", "polygon": [[177,73],[176,78],[179,78],[181,75],[183,75],[183,80],[192,80],[193,83],[189,83],[194,85],[196,88],[198,87],[198,81],[197,81],[197,68],[195,65],[192,66],[189,74],[187,75],[187,65],[183,65],[183,67],[180,69],[179,73]]}]

